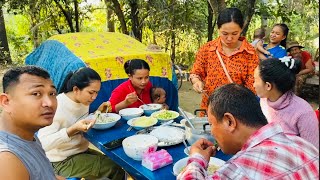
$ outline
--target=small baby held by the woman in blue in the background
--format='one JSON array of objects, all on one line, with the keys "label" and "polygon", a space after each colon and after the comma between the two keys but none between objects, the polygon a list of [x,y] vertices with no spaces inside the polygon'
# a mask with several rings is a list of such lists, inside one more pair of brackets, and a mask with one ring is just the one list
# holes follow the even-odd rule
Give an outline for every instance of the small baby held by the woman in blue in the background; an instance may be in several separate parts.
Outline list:
[{"label": "small baby held by the woman in blue in the background", "polygon": [[267,59],[266,55],[272,56],[269,51],[263,48],[265,35],[266,35],[265,29],[263,28],[256,29],[253,35],[254,40],[251,43],[251,45],[256,49],[260,60]]}]

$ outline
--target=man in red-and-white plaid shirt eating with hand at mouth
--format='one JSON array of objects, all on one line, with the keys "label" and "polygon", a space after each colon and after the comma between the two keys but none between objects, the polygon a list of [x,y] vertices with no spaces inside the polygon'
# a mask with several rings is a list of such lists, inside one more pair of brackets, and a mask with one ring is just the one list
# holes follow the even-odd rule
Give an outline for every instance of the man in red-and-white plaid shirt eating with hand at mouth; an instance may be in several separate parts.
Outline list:
[{"label": "man in red-and-white plaid shirt eating with hand at mouth", "polygon": [[268,124],[254,93],[227,84],[209,98],[211,134],[225,154],[234,154],[209,176],[208,161],[214,144],[199,139],[191,146],[188,165],[177,179],[318,179],[319,151],[281,126]]}]

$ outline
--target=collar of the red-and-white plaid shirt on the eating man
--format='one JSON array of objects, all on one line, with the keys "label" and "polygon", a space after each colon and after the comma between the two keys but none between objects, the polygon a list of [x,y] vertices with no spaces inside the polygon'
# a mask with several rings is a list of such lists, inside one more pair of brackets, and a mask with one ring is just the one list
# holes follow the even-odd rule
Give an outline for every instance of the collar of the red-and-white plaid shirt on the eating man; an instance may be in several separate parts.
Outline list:
[{"label": "collar of the red-and-white plaid shirt on the eating man", "polygon": [[254,146],[260,144],[262,141],[264,141],[272,136],[275,136],[279,133],[283,133],[281,126],[276,122],[269,123],[269,124],[261,127],[260,129],[258,129],[255,133],[253,133],[249,137],[247,142],[243,145],[240,152],[244,152],[246,149],[254,147]]}]

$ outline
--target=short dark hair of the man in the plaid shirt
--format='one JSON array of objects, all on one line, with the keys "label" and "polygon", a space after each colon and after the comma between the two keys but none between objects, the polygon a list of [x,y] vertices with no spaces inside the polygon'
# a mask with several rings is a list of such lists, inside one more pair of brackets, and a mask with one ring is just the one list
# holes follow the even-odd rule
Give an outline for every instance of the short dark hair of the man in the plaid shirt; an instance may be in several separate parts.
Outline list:
[{"label": "short dark hair of the man in the plaid shirt", "polygon": [[217,88],[209,97],[209,111],[218,122],[231,113],[242,124],[261,127],[268,124],[260,103],[253,92],[242,85],[227,84]]}]

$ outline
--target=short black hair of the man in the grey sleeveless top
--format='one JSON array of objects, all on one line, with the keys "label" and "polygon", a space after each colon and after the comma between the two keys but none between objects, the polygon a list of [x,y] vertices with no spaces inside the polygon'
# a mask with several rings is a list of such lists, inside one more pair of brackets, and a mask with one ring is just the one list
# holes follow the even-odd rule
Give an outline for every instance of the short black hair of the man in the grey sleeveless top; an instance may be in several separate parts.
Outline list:
[{"label": "short black hair of the man in the grey sleeveless top", "polygon": [[29,74],[38,76],[44,79],[50,79],[50,74],[37,66],[21,66],[15,67],[8,70],[2,78],[2,89],[3,92],[7,92],[12,86],[19,83],[19,78],[22,74]]}]

